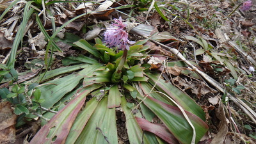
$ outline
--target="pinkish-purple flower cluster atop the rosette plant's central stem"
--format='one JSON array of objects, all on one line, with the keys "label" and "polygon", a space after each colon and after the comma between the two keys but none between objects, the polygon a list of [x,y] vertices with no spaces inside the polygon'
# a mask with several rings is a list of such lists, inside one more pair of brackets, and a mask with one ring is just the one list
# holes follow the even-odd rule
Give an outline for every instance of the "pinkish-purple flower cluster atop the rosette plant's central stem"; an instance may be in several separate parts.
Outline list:
[{"label": "pinkish-purple flower cluster atop the rosette plant's central stem", "polygon": [[125,31],[127,24],[123,24],[122,17],[114,19],[117,24],[112,24],[104,33],[105,42],[109,47],[118,47],[118,49],[129,50],[128,44],[135,42],[128,40],[128,33]]}]

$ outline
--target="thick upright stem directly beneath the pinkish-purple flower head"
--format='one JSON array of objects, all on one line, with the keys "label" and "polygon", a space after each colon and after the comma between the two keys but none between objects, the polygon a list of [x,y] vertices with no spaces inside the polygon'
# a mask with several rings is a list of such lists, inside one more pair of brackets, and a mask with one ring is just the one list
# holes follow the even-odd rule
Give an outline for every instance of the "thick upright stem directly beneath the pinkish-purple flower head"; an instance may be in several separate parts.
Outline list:
[{"label": "thick upright stem directly beneath the pinkish-purple flower head", "polygon": [[128,50],[124,49],[124,54],[122,56],[122,59],[121,59],[120,63],[118,64],[118,67],[116,68],[116,71],[112,75],[111,81],[117,82],[121,79],[122,69],[124,67],[124,63],[125,63],[126,58],[127,58],[127,52],[128,52]]}]

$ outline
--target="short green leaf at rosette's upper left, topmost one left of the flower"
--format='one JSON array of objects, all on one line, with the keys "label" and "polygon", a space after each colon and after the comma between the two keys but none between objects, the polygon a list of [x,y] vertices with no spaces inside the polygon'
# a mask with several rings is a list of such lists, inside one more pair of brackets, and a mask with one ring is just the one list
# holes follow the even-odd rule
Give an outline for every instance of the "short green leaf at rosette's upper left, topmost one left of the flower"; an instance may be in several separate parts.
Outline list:
[{"label": "short green leaf at rosette's upper left, topmost one left of the flower", "polygon": [[100,54],[100,52],[95,47],[90,45],[86,40],[81,39],[77,42],[74,42],[74,44],[77,45],[78,47],[81,47],[85,51],[90,52],[90,54],[92,54],[96,58],[100,58],[100,56],[102,56],[102,54]]}]

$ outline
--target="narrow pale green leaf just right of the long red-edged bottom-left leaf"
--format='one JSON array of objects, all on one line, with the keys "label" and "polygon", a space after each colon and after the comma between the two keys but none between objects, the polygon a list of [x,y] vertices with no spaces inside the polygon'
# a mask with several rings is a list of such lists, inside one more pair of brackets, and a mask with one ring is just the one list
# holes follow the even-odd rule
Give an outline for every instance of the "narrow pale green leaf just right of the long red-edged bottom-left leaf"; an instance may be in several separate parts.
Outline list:
[{"label": "narrow pale green leaf just right of the long red-edged bottom-left leaf", "polygon": [[86,107],[77,115],[77,118],[70,129],[66,143],[75,143],[79,135],[87,124],[89,118],[92,116],[95,108],[97,108],[99,101],[93,97],[90,101],[86,102]]}]

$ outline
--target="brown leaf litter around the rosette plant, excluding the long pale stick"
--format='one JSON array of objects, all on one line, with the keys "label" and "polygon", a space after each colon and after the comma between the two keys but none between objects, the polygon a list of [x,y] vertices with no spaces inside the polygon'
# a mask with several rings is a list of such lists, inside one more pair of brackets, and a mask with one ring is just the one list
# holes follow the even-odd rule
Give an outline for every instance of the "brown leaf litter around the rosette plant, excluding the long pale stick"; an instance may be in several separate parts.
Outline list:
[{"label": "brown leaf litter around the rosette plant, excluding the long pale stick", "polygon": [[[127,4],[124,1],[116,2]],[[53,61],[55,65],[51,67],[52,69],[63,67],[58,59],[79,54],[78,51],[72,49],[67,42],[63,42],[71,38],[71,36],[65,36],[65,33],[72,33],[85,40],[93,40],[93,38],[97,36],[103,37],[102,31],[104,31],[104,28],[102,28],[102,25],[104,25],[104,22],[108,23],[109,20],[118,18],[120,15],[122,15],[123,19],[124,17],[128,18],[127,15],[122,14],[129,12],[127,8],[121,9],[122,13],[113,9],[115,7],[114,5],[118,4],[116,2],[102,1],[100,2],[101,4],[72,3],[71,6],[67,3],[58,3],[54,4],[54,7],[49,7],[57,27],[65,24],[65,22],[81,13],[95,10],[99,11],[88,14],[86,17],[81,17],[81,19],[74,20],[74,22],[71,22],[63,29],[62,36],[61,33],[58,35],[60,41],[56,44],[62,49],[63,54],[55,53],[56,56],[54,56]],[[132,3],[132,1],[127,2]],[[223,19],[234,10],[239,2],[220,2],[215,0],[166,2],[159,5],[159,7],[163,8],[162,12],[170,22],[166,22],[163,17],[154,10],[150,11],[147,20],[145,19],[147,12],[136,12],[132,17],[138,20],[137,22],[140,24],[136,24],[138,26],[134,26],[134,28],[131,29],[130,32],[133,34],[131,40],[138,40],[141,39],[141,36],[145,37],[157,33],[153,40],[167,45],[168,47],[174,47],[177,51],[182,52],[187,60],[194,62],[193,65],[195,65],[195,67],[203,70],[212,77],[212,79],[223,84],[223,86],[228,86],[228,84],[225,83],[225,79],[232,79],[232,76],[230,76],[230,72],[232,71],[232,74],[237,74],[234,86],[243,85],[245,87],[241,94],[234,92],[232,94],[237,97],[237,99],[243,100],[253,111],[256,111],[256,78],[254,70],[252,70],[252,68],[256,67],[255,1],[252,2],[253,6],[251,10],[247,12],[237,10],[228,17],[228,19]],[[242,2],[244,1],[241,1],[241,3]],[[2,13],[9,5],[10,1],[1,1],[0,12]],[[112,8],[109,8],[111,6]],[[19,29],[19,20],[22,19],[21,12],[23,8],[23,2],[17,3],[16,6],[8,12],[8,15],[0,21],[1,63],[6,63],[6,57],[8,57],[8,53],[13,45],[13,39],[15,34],[17,34],[17,29]],[[51,17],[47,18],[44,27],[47,29],[48,33],[51,33],[52,22],[49,19]],[[134,19],[132,18],[132,20]],[[35,19],[32,18],[26,30],[31,33],[31,37],[25,35],[22,42],[29,50],[24,51],[26,47],[20,47],[19,58],[16,61],[17,70],[19,70],[19,72],[27,71],[30,72],[28,74],[31,75],[38,74],[38,71],[29,71],[29,68],[22,67],[22,65],[33,59],[42,60],[43,57],[40,56],[40,53],[44,52],[47,43],[47,39],[40,33],[40,29],[33,26],[34,22]],[[91,29],[84,28],[84,25],[91,26]],[[184,38],[184,36],[193,36],[196,38],[198,35],[201,36],[201,39],[197,38],[201,40],[200,44],[202,45],[200,45],[197,40]],[[204,40],[206,43],[204,43]],[[172,66],[163,65],[163,61],[166,58],[168,58],[167,61],[178,61],[179,58],[177,58],[176,54],[164,49],[163,45],[158,45],[154,42],[148,42],[147,44],[151,47],[150,54],[152,57],[146,59],[151,65],[150,69],[160,71],[165,69],[166,74],[168,74],[166,81],[172,81],[180,90],[188,93],[190,97],[204,108],[205,113],[207,113],[207,124],[209,124],[210,130],[205,134],[200,143],[243,143],[244,141],[255,143],[253,136],[256,136],[256,124],[255,121],[253,122],[251,120],[252,117],[250,119],[250,116],[244,115],[241,107],[237,106],[232,100],[227,102],[227,99],[218,91],[218,88],[215,88],[207,81],[202,81],[202,77],[198,77],[195,70],[189,68],[188,65],[184,65],[184,62],[182,62],[180,66],[179,64]],[[200,54],[195,54],[195,51],[198,49],[204,49],[204,51],[200,50]],[[218,56],[216,56],[216,53]],[[84,52],[84,54],[86,54],[86,52]],[[228,65],[223,61],[228,61]],[[193,76],[193,74],[196,74],[197,77]],[[24,79],[20,77],[19,79]],[[26,81],[28,81],[28,79],[26,79]],[[3,85],[8,87],[6,83]],[[225,88],[225,90],[230,91],[227,87]],[[8,108],[9,107],[8,105]],[[1,115],[2,114],[3,112],[1,112]],[[119,120],[118,129],[121,129],[120,127],[125,127],[125,124],[122,120],[122,115],[117,116]],[[256,115],[252,116],[256,119]],[[15,120],[14,117],[12,119]],[[12,134],[10,135],[12,138],[6,139],[10,143],[15,141],[15,138],[13,138],[13,125],[14,123],[11,125],[6,124],[6,126],[12,126],[12,129],[10,129],[12,130]],[[245,129],[244,125],[250,125],[252,130]],[[122,131],[125,130],[122,129]],[[120,134],[123,133],[122,131],[119,131],[118,136],[123,136],[123,139],[118,139],[120,143],[127,143],[125,142],[127,141],[127,134]],[[28,133],[28,135],[31,136],[31,133]],[[4,134],[4,136],[8,138],[7,136],[9,135]]]}]

